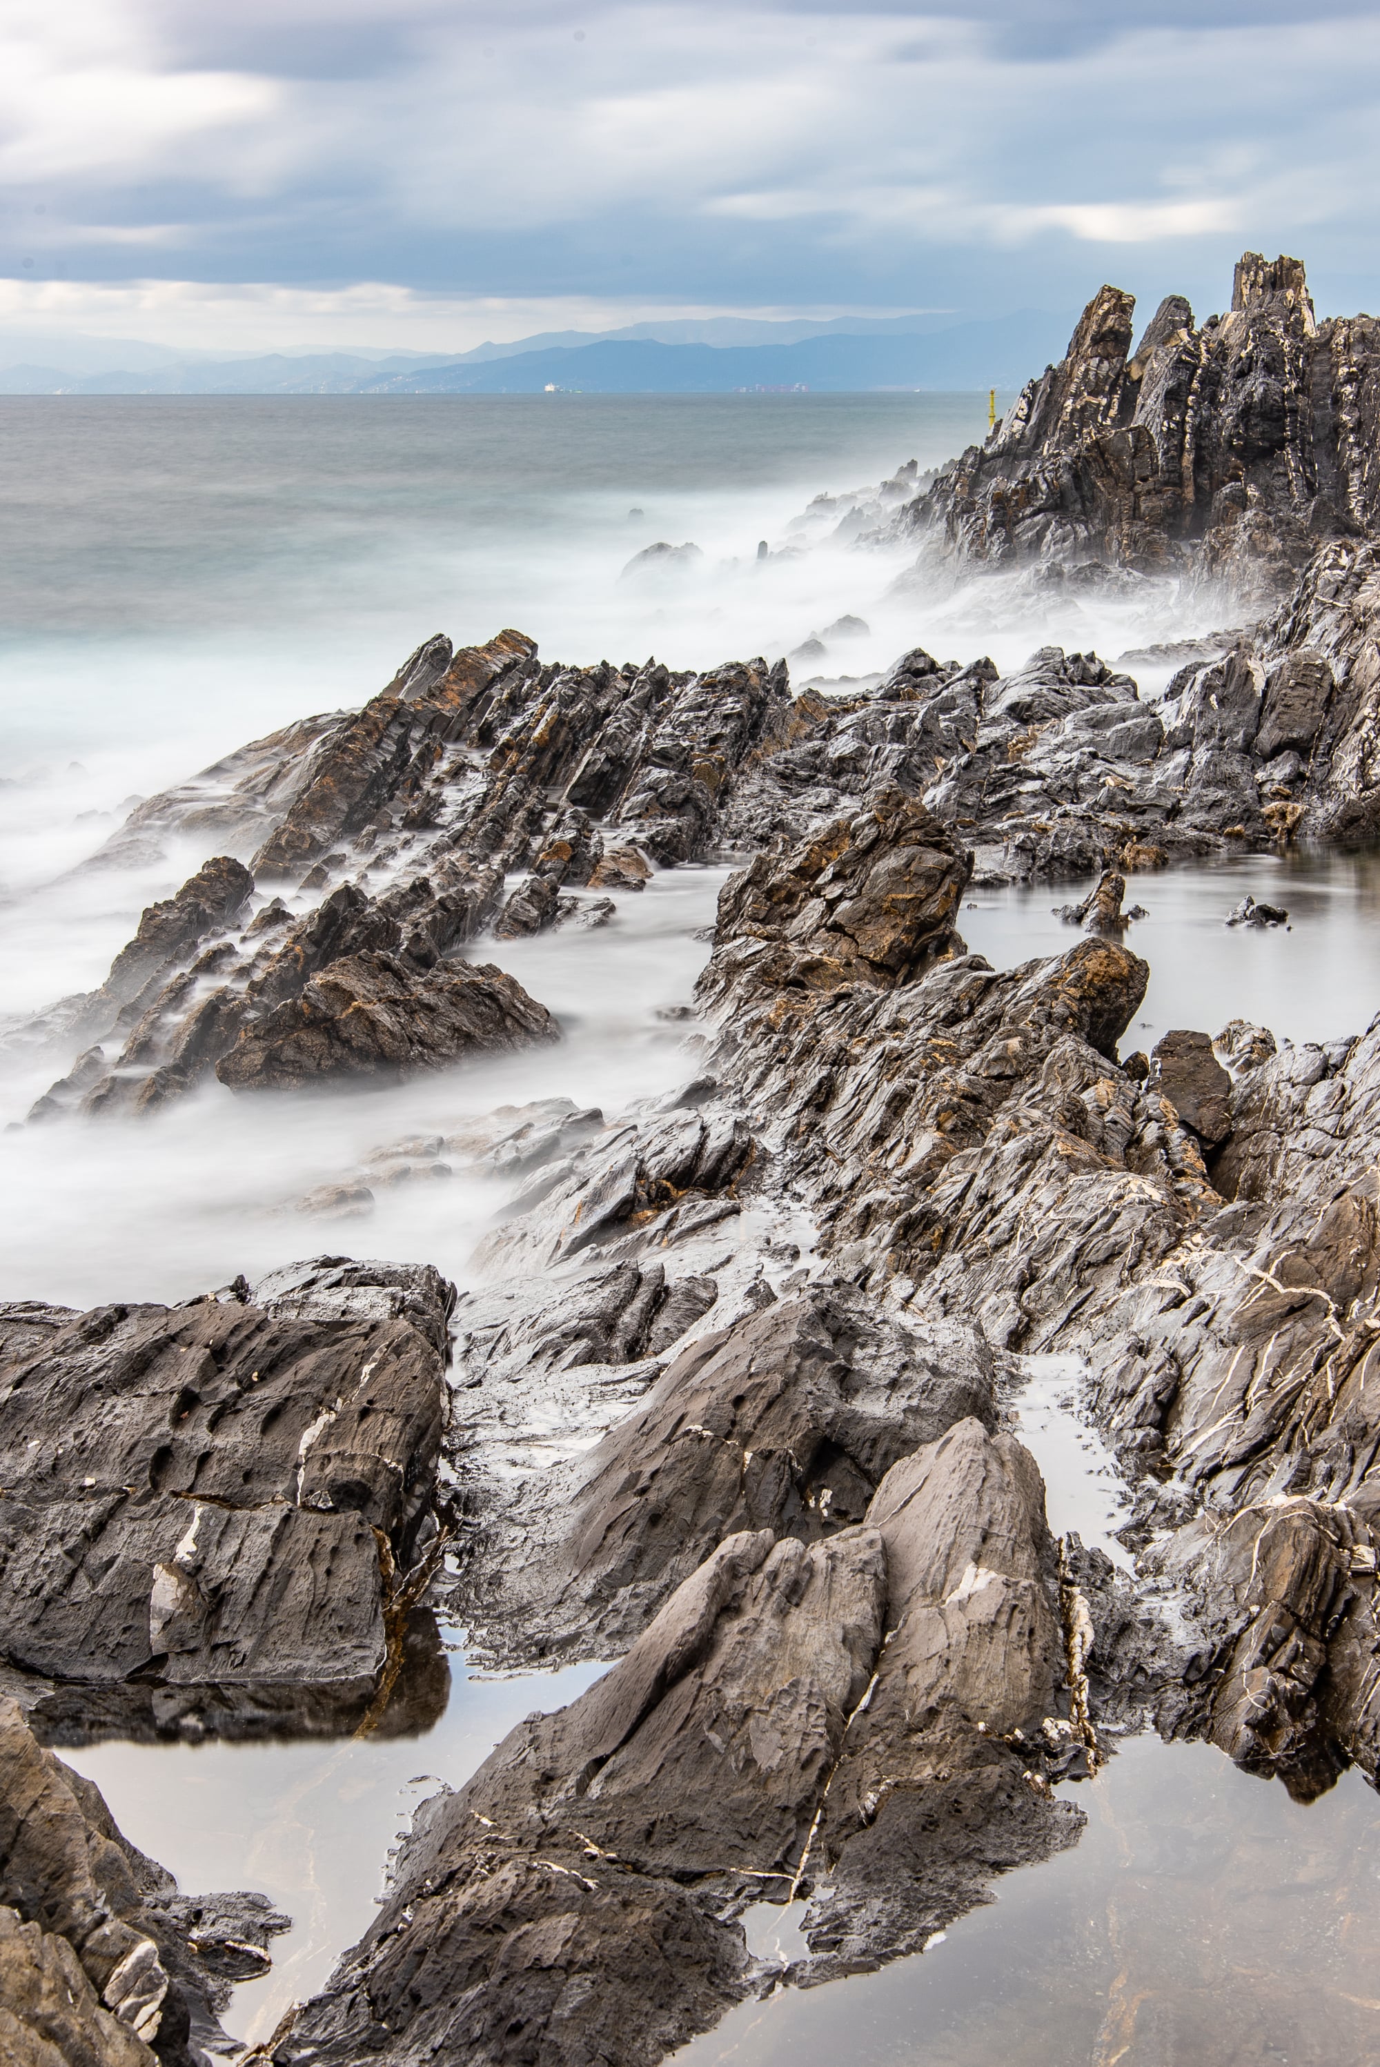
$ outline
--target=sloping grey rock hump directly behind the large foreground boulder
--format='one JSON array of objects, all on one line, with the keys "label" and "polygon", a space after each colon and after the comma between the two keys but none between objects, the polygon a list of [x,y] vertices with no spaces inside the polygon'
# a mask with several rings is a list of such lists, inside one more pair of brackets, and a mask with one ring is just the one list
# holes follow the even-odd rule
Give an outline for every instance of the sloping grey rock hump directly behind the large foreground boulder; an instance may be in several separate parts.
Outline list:
[{"label": "sloping grey rock hump directly behind the large foreground boulder", "polygon": [[[465,1383],[535,1385],[547,1432],[541,1372],[554,1364],[597,1385],[622,1352],[626,1379],[609,1391],[634,1401],[568,1463],[529,1474],[516,1499],[483,1488],[465,1459],[479,1534],[450,1614],[492,1660],[616,1656],[729,1536],[820,1542],[857,1523],[921,1443],[963,1418],[996,1426],[992,1356],[956,1321],[899,1327],[837,1286],[769,1294],[709,1329],[696,1327],[715,1304],[704,1282],[680,1279],[657,1304],[659,1279],[659,1265],[624,1263],[550,1300],[516,1341],[510,1323],[498,1339],[463,1337]],[[680,1354],[657,1356],[686,1329]],[[471,1443],[481,1428],[469,1422]]]}]

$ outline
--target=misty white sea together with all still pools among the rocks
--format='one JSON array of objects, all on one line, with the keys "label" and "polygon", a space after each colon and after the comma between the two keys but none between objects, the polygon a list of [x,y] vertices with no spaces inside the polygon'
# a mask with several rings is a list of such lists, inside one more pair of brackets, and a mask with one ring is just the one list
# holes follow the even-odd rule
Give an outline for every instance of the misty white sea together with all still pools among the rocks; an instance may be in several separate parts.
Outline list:
[{"label": "misty white sea together with all still pools among the rocks", "polygon": [[[1004,401],[1006,397],[998,397]],[[322,1246],[293,1199],[372,1143],[498,1104],[568,1096],[618,1112],[688,1073],[684,1025],[719,864],[667,870],[616,924],[506,943],[564,1042],[351,1098],[236,1104],[211,1083],[138,1124],[23,1127],[56,1073],[6,1040],[101,982],[140,909],[205,856],[93,856],[138,798],[312,711],[382,688],[432,633],[514,626],[547,659],[704,668],[793,655],[847,690],[923,645],[1002,670],[1062,643],[1116,661],[1213,626],[1204,604],[1012,610],[990,583],[917,587],[905,539],[859,539],[847,496],[987,428],[987,395],[0,397],[0,1296],[180,1300]],[[820,500],[822,498],[822,500]],[[690,546],[659,573],[638,554]],[[636,564],[634,564],[636,562]],[[845,622],[847,620],[847,622]],[[1157,697],[1167,661],[1126,661]],[[998,965],[1068,945],[1080,885],[973,891],[961,928]],[[1246,893],[1287,932],[1227,932]],[[1281,1038],[1359,1031],[1380,1007],[1380,860],[1242,858],[1136,883],[1153,978],[1136,1029]],[[66,1058],[70,1060],[70,1058]],[[459,1284],[494,1199],[457,1180],[382,1197],[366,1255]],[[1109,1532],[1126,1488],[1076,1418],[1076,1372],[1031,1372],[1027,1441],[1052,1523]],[[516,1720],[599,1668],[490,1678],[450,1631],[430,1734],[66,1753],[128,1838],[188,1893],[258,1887],[293,1916],[227,2028],[262,2040],[366,1929],[415,1802],[457,1786]],[[1202,1745],[1128,1740],[1070,1786],[1083,1842],[1002,1879],[923,1955],[779,1988],[696,2040],[704,2067],[1335,2067],[1378,2011],[1380,1815],[1355,1773],[1301,1807]],[[754,1918],[799,1951],[793,1922]],[[1262,2007],[1264,2005],[1264,2007]],[[1357,2011],[1355,2005],[1363,2005]],[[1366,2059],[1380,2059],[1372,2050]]]}]

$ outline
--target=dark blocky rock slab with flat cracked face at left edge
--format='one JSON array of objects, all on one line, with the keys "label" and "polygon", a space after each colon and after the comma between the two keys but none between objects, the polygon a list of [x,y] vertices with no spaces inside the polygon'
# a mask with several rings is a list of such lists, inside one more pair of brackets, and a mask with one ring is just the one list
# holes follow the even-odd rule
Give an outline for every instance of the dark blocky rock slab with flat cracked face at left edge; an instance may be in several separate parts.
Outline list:
[{"label": "dark blocky rock slab with flat cracked face at left edge", "polygon": [[6,1306],[10,1691],[58,1734],[359,1718],[440,1542],[452,1298],[318,1259],[176,1308]]}]

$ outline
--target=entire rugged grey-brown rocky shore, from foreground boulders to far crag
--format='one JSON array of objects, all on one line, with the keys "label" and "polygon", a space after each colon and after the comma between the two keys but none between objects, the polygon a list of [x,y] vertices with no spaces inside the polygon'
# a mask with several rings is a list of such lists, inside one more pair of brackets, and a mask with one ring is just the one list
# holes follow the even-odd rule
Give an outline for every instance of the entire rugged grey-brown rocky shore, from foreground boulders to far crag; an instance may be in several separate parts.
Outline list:
[{"label": "entire rugged grey-brown rocky shore, from foreground boulders to far crag", "polygon": [[[205,2067],[285,1926],[178,1893],[56,1753],[426,1728],[438,1614],[492,1668],[607,1670],[419,1809],[273,2067],[655,2067],[1076,1844],[1054,1784],[1126,1728],[1304,1802],[1376,1782],[1380,1029],[1138,1052],[1126,909],[1171,864],[1380,831],[1372,331],[1318,325],[1287,258],[1134,349],[1107,287],[983,449],[888,498],[921,564],[1229,591],[1250,628],[1157,701],[1052,647],[824,697],[434,637],[87,864],[205,856],[8,1036],[58,1058],[27,1124],[132,1141],[178,1100],[558,1044],[504,943],[738,866],[678,1089],[457,1145],[508,1186],[463,1292],[318,1255],[0,1308],[17,2061]],[[1089,874],[1064,953],[969,953],[973,885]],[[1047,1525],[1012,1410],[1049,1354],[1134,1488],[1134,1575]],[[802,1906],[785,1970],[762,1902]]]}]

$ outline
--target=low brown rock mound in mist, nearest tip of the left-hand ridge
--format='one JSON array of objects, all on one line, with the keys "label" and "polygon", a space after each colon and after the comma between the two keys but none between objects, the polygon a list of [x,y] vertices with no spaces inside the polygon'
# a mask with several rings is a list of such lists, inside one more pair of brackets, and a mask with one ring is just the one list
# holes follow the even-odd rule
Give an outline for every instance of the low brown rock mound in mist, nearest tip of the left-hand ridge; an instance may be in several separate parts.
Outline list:
[{"label": "low brown rock mound in mist, nearest tip of the left-hand ridge", "polygon": [[492,963],[411,974],[395,955],[328,963],[295,998],[246,1027],[215,1065],[231,1091],[407,1075],[471,1054],[558,1040],[545,1005]]}]

